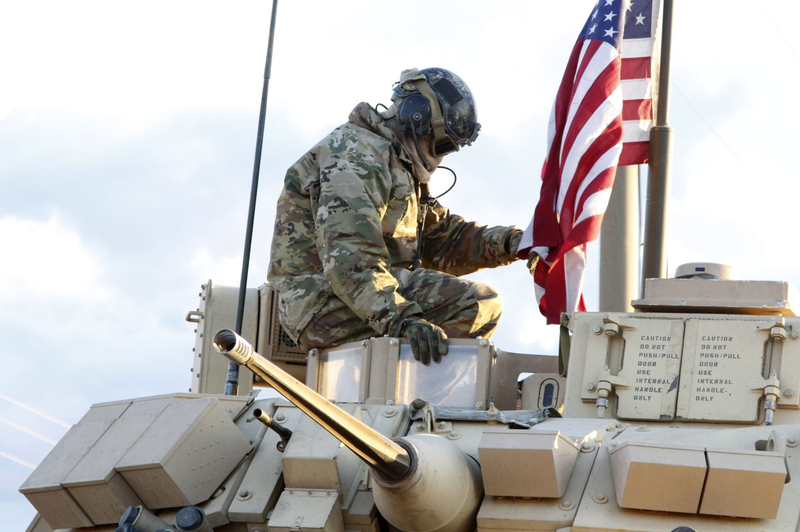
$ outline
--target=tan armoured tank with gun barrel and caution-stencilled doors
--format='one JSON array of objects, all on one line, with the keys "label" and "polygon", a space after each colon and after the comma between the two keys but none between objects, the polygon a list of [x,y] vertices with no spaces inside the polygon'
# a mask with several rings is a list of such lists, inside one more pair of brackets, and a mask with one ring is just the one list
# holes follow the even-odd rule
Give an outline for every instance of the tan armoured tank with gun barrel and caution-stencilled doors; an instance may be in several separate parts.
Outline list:
[{"label": "tan armoured tank with gun barrel and caution-stencilled doors", "polygon": [[715,271],[564,315],[558,355],[452,339],[431,366],[389,337],[304,353],[269,286],[220,329],[209,281],[192,392],[94,405],[21,487],[28,530],[795,530],[797,295]]}]

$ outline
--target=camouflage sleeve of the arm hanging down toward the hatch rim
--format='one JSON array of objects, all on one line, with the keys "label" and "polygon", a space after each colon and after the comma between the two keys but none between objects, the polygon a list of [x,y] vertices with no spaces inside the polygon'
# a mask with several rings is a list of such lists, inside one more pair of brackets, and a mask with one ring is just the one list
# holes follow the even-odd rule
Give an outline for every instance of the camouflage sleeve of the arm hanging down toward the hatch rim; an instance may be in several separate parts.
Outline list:
[{"label": "camouflage sleeve of the arm hanging down toward the hatch rim", "polygon": [[378,334],[396,334],[397,325],[421,314],[403,298],[389,272],[381,232],[392,179],[381,150],[344,130],[341,142],[321,154],[315,219],[316,246],[334,293]]}]

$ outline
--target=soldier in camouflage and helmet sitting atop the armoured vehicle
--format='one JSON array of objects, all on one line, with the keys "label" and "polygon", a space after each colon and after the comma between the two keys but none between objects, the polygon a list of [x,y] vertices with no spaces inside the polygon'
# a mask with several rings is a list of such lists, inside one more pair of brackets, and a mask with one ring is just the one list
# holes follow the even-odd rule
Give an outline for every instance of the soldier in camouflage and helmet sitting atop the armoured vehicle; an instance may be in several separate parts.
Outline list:
[{"label": "soldier in camouflage and helmet sitting atop the armoured vehicle", "polygon": [[451,214],[428,192],[443,157],[478,136],[475,100],[442,68],[401,74],[392,106],[358,104],[286,173],[268,280],[305,349],[388,334],[424,364],[447,336],[489,338],[502,303],[460,279],[516,260],[522,231]]}]

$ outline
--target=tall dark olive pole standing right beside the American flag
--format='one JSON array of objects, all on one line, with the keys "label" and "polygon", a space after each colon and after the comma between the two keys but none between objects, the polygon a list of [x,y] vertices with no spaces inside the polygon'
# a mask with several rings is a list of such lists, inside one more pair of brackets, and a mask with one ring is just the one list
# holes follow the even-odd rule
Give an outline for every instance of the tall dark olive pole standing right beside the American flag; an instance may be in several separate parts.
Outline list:
[{"label": "tall dark olive pole standing right beside the American flag", "polygon": [[669,70],[672,48],[673,0],[664,0],[661,23],[661,59],[658,78],[656,125],[650,130],[650,160],[645,198],[644,250],[642,253],[641,296],[646,279],[667,276],[667,197],[673,131],[669,127]]}]

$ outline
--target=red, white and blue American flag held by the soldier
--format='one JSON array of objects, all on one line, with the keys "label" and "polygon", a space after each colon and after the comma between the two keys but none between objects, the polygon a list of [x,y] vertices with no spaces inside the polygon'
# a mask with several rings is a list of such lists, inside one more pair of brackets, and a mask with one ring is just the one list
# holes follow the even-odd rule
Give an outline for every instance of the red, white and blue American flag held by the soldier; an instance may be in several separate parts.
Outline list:
[{"label": "red, white and blue American flag held by the soldier", "polygon": [[617,166],[647,162],[658,12],[658,0],[598,0],[567,63],[520,244],[520,256],[541,257],[534,284],[547,323],[586,310],[586,243],[600,233]]}]

